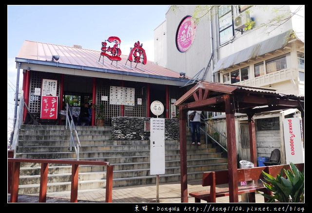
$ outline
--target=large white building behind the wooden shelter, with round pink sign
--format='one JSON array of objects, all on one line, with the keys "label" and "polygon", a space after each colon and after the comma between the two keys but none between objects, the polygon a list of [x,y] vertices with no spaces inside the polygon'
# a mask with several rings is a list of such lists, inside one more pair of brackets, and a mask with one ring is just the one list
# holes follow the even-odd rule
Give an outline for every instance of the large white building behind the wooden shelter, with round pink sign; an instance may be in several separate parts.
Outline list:
[{"label": "large white building behind the wooden shelter, with round pink sign", "polygon": [[[304,5],[294,6],[295,11],[290,5],[172,6],[166,21],[154,31],[155,62],[197,80],[274,88],[304,96],[304,32],[294,24],[296,17],[304,24]],[[302,10],[303,16],[298,16]],[[183,27],[191,32],[188,40]],[[254,116],[258,156],[269,157],[277,148],[285,162],[282,121],[292,116],[303,117],[292,110]],[[249,158],[241,143],[246,120],[238,110],[240,159]],[[272,127],[262,128],[264,123]]]}]

